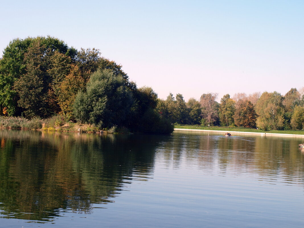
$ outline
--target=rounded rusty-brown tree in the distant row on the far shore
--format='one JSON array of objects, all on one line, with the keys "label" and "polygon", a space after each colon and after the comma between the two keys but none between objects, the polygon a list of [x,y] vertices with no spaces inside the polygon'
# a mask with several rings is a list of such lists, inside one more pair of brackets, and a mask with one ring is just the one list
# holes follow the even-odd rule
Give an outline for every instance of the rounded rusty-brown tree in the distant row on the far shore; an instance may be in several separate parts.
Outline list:
[{"label": "rounded rusty-brown tree in the distant row on the far shore", "polygon": [[257,113],[250,101],[239,103],[239,107],[236,109],[233,118],[235,125],[238,127],[256,127]]}]

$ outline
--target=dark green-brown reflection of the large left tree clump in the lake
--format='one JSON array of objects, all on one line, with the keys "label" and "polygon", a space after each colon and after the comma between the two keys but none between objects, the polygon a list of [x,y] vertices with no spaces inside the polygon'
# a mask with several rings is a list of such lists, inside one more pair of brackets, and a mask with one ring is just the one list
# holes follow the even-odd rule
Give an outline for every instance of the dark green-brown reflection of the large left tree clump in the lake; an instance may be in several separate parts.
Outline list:
[{"label": "dark green-brown reflection of the large left tree clump in the lake", "polygon": [[52,220],[60,209],[89,213],[93,203],[111,202],[133,173],[147,179],[159,140],[16,130],[0,135],[1,213],[34,220]]}]

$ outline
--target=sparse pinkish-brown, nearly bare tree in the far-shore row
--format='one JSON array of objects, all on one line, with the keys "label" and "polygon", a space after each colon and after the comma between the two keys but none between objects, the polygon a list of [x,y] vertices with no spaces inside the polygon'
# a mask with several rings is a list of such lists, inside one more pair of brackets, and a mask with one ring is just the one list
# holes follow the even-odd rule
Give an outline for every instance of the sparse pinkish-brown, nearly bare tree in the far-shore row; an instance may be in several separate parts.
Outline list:
[{"label": "sparse pinkish-brown, nearly bare tree in the far-shore row", "polygon": [[202,94],[200,105],[202,108],[202,118],[206,120],[206,124],[213,124],[218,119],[218,102],[216,102],[217,93]]}]

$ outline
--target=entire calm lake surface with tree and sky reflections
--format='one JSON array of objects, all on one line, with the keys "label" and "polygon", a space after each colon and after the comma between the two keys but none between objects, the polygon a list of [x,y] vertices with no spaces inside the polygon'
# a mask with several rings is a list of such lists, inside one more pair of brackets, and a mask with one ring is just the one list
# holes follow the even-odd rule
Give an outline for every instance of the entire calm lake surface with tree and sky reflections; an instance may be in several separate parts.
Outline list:
[{"label": "entire calm lake surface with tree and sky reflections", "polygon": [[0,136],[0,227],[304,227],[304,138]]}]

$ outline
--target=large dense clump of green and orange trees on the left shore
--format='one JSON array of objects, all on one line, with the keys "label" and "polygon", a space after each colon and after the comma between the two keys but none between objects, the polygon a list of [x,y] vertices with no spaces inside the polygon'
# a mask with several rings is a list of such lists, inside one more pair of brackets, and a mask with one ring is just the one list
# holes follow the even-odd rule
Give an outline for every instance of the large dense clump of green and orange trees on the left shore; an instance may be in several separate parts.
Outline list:
[{"label": "large dense clump of green and orange trees on the left shore", "polygon": [[0,115],[172,132],[155,109],[157,94],[137,88],[121,67],[98,49],[78,51],[50,36],[12,40],[0,59]]}]

